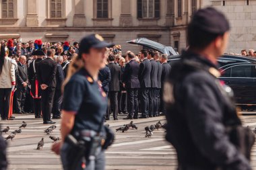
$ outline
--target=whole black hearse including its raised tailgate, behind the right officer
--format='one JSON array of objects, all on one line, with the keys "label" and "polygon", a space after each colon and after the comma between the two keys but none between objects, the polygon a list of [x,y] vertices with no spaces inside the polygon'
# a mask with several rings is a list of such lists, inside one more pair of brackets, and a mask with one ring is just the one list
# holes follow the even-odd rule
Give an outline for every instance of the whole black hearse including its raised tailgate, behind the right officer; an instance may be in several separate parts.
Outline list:
[{"label": "whole black hearse including its raised tailgate, behind the right officer", "polygon": [[[127,43],[145,46],[162,54],[168,54],[170,65],[181,59],[181,56],[177,55],[172,47],[166,47],[147,38],[137,38]],[[222,71],[220,80],[233,89],[236,104],[242,105],[242,108],[247,106],[256,108],[256,58],[224,55],[218,58],[218,64]]]}]

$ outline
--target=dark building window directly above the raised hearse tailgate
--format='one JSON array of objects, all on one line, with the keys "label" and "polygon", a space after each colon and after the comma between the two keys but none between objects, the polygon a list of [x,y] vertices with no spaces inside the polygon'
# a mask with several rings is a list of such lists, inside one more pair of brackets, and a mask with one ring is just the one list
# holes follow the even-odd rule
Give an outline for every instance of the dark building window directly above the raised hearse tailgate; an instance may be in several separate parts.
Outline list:
[{"label": "dark building window directly above the raised hearse tailgate", "polygon": [[137,17],[160,17],[160,0],[137,0]]}]

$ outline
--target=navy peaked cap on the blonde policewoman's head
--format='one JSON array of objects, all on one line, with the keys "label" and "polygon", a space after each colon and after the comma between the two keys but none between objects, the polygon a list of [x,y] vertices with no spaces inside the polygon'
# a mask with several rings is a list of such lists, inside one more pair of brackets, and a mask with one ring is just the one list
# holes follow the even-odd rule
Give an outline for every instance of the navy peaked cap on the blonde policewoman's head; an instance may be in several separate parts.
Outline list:
[{"label": "navy peaked cap on the blonde policewoman's head", "polygon": [[105,48],[115,46],[115,44],[104,41],[104,38],[99,34],[91,34],[83,38],[79,45],[79,52],[88,52],[90,48]]}]

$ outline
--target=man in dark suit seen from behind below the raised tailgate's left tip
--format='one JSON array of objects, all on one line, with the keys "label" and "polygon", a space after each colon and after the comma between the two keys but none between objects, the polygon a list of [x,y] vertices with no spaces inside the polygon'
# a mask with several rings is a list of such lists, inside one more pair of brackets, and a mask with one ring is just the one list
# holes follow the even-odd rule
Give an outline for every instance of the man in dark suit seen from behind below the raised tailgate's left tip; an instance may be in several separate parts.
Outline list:
[{"label": "man in dark suit seen from behind below the raised tailgate's left tip", "polygon": [[137,119],[139,102],[137,99],[139,84],[139,63],[135,61],[135,55],[133,52],[127,54],[129,62],[125,65],[125,71],[123,72],[123,82],[127,89],[127,111],[128,116],[125,120]]}]

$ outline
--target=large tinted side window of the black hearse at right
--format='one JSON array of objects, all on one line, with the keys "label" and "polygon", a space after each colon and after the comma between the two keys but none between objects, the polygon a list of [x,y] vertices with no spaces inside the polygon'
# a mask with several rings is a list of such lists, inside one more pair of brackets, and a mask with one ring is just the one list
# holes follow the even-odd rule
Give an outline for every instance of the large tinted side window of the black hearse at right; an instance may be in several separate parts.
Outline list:
[{"label": "large tinted side window of the black hearse at right", "polygon": [[252,77],[252,65],[231,67],[231,77]]}]

